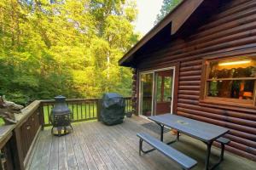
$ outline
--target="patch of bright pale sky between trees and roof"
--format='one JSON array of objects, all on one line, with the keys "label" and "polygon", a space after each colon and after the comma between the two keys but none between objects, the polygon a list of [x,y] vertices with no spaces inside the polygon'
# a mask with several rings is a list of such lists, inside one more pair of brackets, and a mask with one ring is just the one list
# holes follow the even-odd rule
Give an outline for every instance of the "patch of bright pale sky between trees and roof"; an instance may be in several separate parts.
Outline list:
[{"label": "patch of bright pale sky between trees and roof", "polygon": [[156,20],[156,15],[160,13],[162,2],[163,0],[137,0],[136,31],[145,35],[154,27],[154,21]]}]

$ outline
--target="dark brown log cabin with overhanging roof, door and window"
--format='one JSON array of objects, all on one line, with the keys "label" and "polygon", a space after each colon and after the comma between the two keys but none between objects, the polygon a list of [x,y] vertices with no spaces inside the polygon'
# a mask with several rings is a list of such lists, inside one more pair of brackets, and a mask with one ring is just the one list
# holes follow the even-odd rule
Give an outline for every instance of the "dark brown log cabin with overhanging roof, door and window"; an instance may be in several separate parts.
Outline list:
[{"label": "dark brown log cabin with overhanging roof, door and window", "polygon": [[256,160],[256,1],[184,0],[119,65],[135,114],[228,127],[226,150]]}]

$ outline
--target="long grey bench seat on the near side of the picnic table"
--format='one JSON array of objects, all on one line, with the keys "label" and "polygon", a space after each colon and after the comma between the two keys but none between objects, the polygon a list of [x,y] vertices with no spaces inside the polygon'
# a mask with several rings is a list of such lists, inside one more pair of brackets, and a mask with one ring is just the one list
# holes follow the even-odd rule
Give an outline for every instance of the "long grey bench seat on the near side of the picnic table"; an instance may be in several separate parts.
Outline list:
[{"label": "long grey bench seat on the near side of the picnic table", "polygon": [[[143,151],[143,141],[150,144],[156,150],[159,150],[162,154],[172,159],[172,161],[176,161],[183,169],[191,169],[195,167],[197,161],[190,158],[189,156],[184,155],[182,152],[175,150],[170,145],[167,145],[161,142],[159,139],[155,139],[147,133],[137,133],[137,136],[140,138],[140,146],[139,153],[141,155],[141,151]],[[147,153],[147,151],[143,151]]]}]

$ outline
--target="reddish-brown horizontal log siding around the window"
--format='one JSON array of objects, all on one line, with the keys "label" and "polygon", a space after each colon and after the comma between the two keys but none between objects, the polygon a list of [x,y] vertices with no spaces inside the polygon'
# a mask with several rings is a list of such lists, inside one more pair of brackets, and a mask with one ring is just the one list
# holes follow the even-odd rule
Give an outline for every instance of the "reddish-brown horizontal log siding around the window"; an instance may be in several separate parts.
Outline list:
[{"label": "reddish-brown horizontal log siding around the window", "polygon": [[230,128],[227,150],[256,160],[255,110],[237,111],[200,105],[202,59],[206,56],[256,54],[256,2],[235,0],[212,16],[191,37],[177,39],[137,60],[145,70],[180,62],[177,115]]}]

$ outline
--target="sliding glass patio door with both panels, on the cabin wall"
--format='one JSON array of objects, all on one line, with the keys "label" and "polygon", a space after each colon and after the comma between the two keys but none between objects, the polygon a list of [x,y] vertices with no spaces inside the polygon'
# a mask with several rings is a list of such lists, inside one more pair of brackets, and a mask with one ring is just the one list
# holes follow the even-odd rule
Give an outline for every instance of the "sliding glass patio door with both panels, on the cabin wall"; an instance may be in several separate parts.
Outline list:
[{"label": "sliding glass patio door with both panels, on the cabin wall", "polygon": [[174,67],[140,74],[141,116],[172,113]]}]

